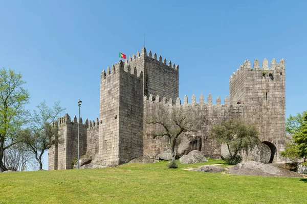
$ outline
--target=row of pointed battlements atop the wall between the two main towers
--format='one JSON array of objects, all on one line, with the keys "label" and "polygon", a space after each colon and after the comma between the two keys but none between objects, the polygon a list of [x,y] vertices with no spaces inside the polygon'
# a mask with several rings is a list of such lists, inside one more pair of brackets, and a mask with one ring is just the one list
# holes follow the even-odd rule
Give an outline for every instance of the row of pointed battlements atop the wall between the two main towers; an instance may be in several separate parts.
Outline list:
[{"label": "row of pointed battlements atop the wall between the two main towers", "polygon": [[[173,102],[174,101],[174,102]],[[173,100],[172,98],[167,99],[166,97],[160,97],[157,95],[156,97],[152,96],[152,94],[147,97],[146,95],[144,96],[144,103],[148,104],[156,104],[156,103],[161,103],[161,104],[168,104],[168,106],[186,106],[186,105],[205,105],[205,106],[230,106],[229,98],[226,95],[224,98],[224,104],[221,104],[221,97],[217,96],[215,105],[212,105],[212,96],[209,93],[207,102],[204,101],[204,95],[200,95],[199,103],[196,103],[196,97],[193,94],[191,98],[191,103],[189,103],[188,96],[185,95],[183,99],[183,104],[181,103],[181,99],[179,97],[176,98],[176,100]],[[235,106],[240,106],[240,105],[235,105]]]}]

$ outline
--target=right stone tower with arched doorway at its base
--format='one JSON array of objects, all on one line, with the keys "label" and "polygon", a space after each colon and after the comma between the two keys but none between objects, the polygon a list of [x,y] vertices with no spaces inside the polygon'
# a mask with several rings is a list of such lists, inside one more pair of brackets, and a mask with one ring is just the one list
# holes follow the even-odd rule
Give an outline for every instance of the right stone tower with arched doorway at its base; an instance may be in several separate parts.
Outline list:
[{"label": "right stone tower with arched doorway at its base", "polygon": [[[271,162],[280,162],[279,152],[283,150],[286,126],[286,69],[284,60],[251,63],[246,60],[230,78],[230,103],[243,105],[240,119],[258,127],[260,140],[267,144],[271,151]],[[280,147],[280,148],[276,148]]]}]

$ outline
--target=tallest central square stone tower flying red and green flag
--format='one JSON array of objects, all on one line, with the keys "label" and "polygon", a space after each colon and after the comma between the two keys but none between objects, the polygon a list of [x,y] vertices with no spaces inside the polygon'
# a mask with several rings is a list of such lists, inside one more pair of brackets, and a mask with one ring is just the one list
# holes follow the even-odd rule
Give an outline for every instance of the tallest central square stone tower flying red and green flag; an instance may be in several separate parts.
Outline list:
[{"label": "tallest central square stone tower flying red and green flag", "polygon": [[179,66],[157,54],[141,55],[112,65],[101,73],[99,157],[102,165],[119,165],[143,156],[143,96],[179,95]]}]

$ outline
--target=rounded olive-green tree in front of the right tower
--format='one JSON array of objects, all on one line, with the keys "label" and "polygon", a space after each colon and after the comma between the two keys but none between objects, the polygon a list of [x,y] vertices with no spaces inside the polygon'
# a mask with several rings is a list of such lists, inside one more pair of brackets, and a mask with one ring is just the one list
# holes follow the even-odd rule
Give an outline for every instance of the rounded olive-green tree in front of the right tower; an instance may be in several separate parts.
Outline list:
[{"label": "rounded olive-green tree in front of the right tower", "polygon": [[215,138],[218,144],[227,145],[230,156],[226,158],[226,162],[229,164],[241,162],[240,151],[248,150],[261,143],[258,138],[259,133],[254,126],[235,119],[213,125],[209,135]]}]

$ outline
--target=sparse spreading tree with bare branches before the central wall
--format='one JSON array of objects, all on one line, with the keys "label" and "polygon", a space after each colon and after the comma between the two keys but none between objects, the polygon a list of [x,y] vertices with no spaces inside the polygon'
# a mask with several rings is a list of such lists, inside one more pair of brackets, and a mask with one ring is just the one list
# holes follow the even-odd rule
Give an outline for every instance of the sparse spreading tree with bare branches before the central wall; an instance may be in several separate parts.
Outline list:
[{"label": "sparse spreading tree with bare branches before the central wall", "polygon": [[169,148],[171,150],[172,160],[168,168],[177,168],[175,146],[180,134],[187,134],[194,131],[200,124],[194,115],[191,114],[189,107],[167,106],[158,103],[150,115],[146,116],[146,123],[153,124],[154,129],[147,132],[147,135],[156,137],[167,136],[169,139]]}]

